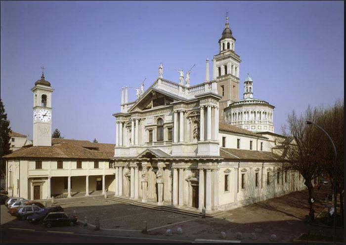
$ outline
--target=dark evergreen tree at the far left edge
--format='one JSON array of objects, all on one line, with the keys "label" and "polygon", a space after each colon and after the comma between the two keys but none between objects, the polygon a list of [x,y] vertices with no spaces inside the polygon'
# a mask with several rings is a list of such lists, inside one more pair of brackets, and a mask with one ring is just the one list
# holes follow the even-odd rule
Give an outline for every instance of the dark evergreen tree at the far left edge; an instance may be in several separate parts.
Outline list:
[{"label": "dark evergreen tree at the far left edge", "polygon": [[5,161],[3,161],[2,156],[10,154],[12,151],[10,148],[10,136],[11,127],[9,126],[9,121],[7,120],[7,113],[5,113],[5,107],[0,99],[0,114],[1,114],[1,139],[0,139],[0,171],[1,175],[5,173]]}]

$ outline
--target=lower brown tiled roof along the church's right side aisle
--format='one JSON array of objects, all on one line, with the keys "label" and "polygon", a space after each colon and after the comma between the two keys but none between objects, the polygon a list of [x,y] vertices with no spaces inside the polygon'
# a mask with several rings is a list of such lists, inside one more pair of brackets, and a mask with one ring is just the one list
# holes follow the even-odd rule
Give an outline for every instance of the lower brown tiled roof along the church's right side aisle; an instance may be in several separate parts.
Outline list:
[{"label": "lower brown tiled roof along the church's right side aisle", "polygon": [[220,157],[235,161],[284,161],[279,155],[271,152],[251,151],[231,148],[220,148]]}]

